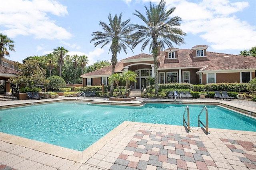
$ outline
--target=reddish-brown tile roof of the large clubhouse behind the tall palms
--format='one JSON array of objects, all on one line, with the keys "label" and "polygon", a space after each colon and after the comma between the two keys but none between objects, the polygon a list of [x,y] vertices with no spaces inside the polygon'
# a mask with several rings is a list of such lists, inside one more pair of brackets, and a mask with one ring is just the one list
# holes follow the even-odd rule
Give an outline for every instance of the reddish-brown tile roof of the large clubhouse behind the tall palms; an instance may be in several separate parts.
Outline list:
[{"label": "reddish-brown tile roof of the large clubhouse behind the tall palms", "polygon": [[[196,45],[194,47],[205,47],[207,45]],[[256,69],[256,57],[232,55],[225,53],[206,52],[207,60],[195,61],[189,54],[190,49],[178,50],[178,62],[165,62],[165,52],[161,51],[158,57],[158,69],[180,69],[180,68],[198,68],[204,71],[218,71],[218,70],[235,70],[235,69]],[[150,58],[149,54],[138,54],[122,60]],[[123,71],[123,62],[116,64],[115,72]],[[82,76],[96,76],[96,75],[111,75],[112,65],[102,69],[86,73]]]}]

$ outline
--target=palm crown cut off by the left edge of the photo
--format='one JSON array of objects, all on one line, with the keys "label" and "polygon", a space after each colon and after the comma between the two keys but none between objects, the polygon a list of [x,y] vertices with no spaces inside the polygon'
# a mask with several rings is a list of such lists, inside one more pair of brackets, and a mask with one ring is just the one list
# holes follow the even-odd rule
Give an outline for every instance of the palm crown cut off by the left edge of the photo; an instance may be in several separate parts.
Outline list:
[{"label": "palm crown cut off by the left edge of the photo", "polygon": [[2,64],[2,58],[4,58],[4,56],[10,57],[8,49],[9,51],[15,52],[14,47],[14,41],[8,38],[7,35],[0,33],[0,64]]}]

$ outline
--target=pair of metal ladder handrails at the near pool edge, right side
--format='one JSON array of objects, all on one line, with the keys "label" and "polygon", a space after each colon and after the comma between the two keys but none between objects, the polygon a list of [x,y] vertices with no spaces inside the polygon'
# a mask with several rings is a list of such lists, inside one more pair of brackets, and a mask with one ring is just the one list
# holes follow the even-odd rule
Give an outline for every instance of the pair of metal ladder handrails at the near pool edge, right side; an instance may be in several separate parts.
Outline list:
[{"label": "pair of metal ladder handrails at the near pool edge, right side", "polygon": [[[202,123],[202,121],[200,121],[200,115],[202,114],[202,112],[205,110],[205,119],[206,119],[206,125],[204,125],[204,123]],[[187,111],[187,121],[185,120],[185,113]],[[187,132],[191,132],[190,130],[190,125],[189,125],[189,108],[188,105],[186,106],[186,109],[183,113],[183,126],[185,126],[185,123],[187,125]],[[208,110],[207,107],[204,106],[204,108],[201,110],[201,112],[198,115],[198,127],[200,127],[200,123],[206,128],[206,134],[210,134],[209,130],[208,130]]]}]

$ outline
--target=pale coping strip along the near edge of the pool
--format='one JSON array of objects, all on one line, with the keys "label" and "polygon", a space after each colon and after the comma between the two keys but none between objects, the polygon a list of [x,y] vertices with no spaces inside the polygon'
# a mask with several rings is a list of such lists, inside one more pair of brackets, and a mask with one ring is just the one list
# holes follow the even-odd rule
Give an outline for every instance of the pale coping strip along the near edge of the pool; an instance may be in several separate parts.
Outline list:
[{"label": "pale coping strip along the near edge of the pool", "polygon": [[[145,125],[145,126],[153,126],[153,127],[166,127],[166,128],[182,128],[185,129],[184,126],[178,126],[178,125],[162,125],[162,124],[152,124],[152,123],[139,123],[139,122],[130,122],[130,121],[124,121],[118,127],[114,128],[110,132],[108,132],[106,135],[104,135],[102,138],[97,140],[94,144],[86,148],[84,151],[77,151],[72,150],[69,148],[64,148],[61,146],[56,146],[53,144],[48,144],[44,142],[39,142],[36,140],[31,140],[27,138],[23,138],[20,136],[15,136],[11,134],[6,134],[3,132],[0,132],[0,140],[4,142],[8,142],[11,144],[16,144],[19,146],[23,146],[26,148],[30,148],[33,150],[37,150],[40,152],[44,152],[46,154],[50,154],[53,156],[57,156],[60,158],[73,160],[75,162],[85,163],[87,160],[89,160],[94,154],[96,154],[102,147],[104,147],[110,140],[112,140],[118,133],[120,133],[124,128],[126,128],[129,125]],[[193,130],[193,128],[191,128]],[[198,130],[198,128],[195,128],[195,130]],[[256,132],[251,131],[242,131],[242,130],[228,130],[228,129],[217,129],[217,128],[209,128],[209,131],[214,132],[226,132],[226,133],[236,133],[236,134],[246,134],[246,135],[254,135],[256,136]],[[189,134],[189,132],[188,132]],[[207,134],[206,134],[207,135]]]}]

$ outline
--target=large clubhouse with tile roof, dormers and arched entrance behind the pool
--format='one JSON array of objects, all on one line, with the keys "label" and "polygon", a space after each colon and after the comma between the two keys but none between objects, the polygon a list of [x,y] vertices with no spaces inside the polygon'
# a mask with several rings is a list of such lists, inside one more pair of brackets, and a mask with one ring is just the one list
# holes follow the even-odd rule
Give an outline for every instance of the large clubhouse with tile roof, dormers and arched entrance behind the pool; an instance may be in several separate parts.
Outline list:
[{"label": "large clubhouse with tile roof, dormers and arched entrance behind the pool", "polygon": [[[256,57],[231,55],[207,51],[208,45],[196,45],[192,49],[171,48],[158,51],[159,83],[208,84],[248,83],[256,77]],[[115,73],[126,70],[138,74],[134,89],[141,89],[147,77],[154,77],[152,55],[138,54],[122,59],[116,64]],[[81,75],[84,86],[107,84],[112,65]]]}]

